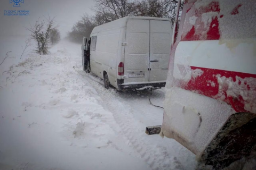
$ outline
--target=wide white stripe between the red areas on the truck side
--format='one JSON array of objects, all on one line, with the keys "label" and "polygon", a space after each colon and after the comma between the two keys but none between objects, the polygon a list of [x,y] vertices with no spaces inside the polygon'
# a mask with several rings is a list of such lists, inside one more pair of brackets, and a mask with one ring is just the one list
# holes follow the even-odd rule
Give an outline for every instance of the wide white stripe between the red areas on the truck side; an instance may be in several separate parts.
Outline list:
[{"label": "wide white stripe between the red areas on the truck side", "polygon": [[175,51],[177,64],[256,74],[256,39],[223,44],[221,40],[181,41]]}]

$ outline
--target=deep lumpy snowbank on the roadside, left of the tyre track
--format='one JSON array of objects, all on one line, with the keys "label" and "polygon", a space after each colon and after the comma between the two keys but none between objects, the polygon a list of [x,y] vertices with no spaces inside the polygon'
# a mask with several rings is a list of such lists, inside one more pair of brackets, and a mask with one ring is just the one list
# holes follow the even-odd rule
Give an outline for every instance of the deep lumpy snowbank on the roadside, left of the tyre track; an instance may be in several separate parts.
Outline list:
[{"label": "deep lumpy snowbank on the roadside, left of the tyre track", "polygon": [[0,169],[150,169],[63,45],[1,73]]}]

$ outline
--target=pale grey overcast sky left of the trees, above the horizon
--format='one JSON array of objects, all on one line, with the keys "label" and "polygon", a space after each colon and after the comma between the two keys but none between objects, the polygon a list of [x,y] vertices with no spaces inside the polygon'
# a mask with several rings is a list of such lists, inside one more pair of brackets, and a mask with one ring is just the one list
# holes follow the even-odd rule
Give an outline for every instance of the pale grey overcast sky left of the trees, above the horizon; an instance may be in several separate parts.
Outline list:
[{"label": "pale grey overcast sky left of the trees, above the horizon", "polygon": [[[65,37],[84,13],[93,14],[90,10],[93,5],[93,0],[24,0],[24,3],[20,2],[20,7],[13,7],[10,0],[1,0],[0,36],[27,35],[24,27],[29,27],[29,23],[33,24],[38,17],[43,18],[49,13],[56,16],[61,36]],[[29,10],[30,15],[4,16],[4,10]]]}]

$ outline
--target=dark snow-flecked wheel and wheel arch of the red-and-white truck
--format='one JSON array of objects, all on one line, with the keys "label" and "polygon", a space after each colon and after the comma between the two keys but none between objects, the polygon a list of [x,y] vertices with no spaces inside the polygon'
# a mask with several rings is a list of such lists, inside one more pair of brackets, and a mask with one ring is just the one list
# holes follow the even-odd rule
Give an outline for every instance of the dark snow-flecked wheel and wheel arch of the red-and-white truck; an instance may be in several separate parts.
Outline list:
[{"label": "dark snow-flecked wheel and wheel arch of the red-and-white truck", "polygon": [[222,169],[250,156],[255,145],[256,114],[236,113],[228,118],[199,157],[198,163],[200,167],[212,166],[214,169]]}]

